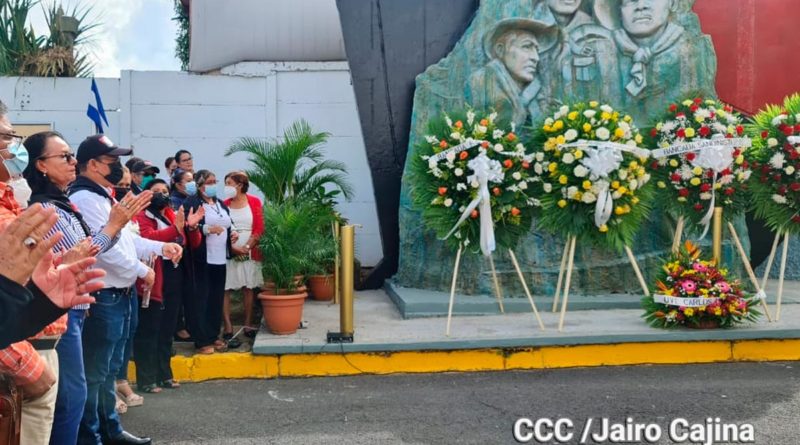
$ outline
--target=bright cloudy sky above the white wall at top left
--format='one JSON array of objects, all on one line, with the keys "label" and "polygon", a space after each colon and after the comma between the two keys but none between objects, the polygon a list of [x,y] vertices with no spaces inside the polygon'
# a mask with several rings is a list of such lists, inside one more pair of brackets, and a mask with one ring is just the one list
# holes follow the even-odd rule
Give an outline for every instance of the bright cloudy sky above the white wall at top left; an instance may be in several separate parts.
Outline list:
[{"label": "bright cloudy sky above the white wall at top left", "polygon": [[[54,0],[43,0],[52,4]],[[90,5],[102,23],[96,32],[91,58],[96,77],[119,77],[120,70],[176,71],[177,24],[172,20],[173,0],[78,0]],[[66,6],[76,0],[61,0]],[[37,34],[47,34],[41,7],[35,8],[31,24]]]}]

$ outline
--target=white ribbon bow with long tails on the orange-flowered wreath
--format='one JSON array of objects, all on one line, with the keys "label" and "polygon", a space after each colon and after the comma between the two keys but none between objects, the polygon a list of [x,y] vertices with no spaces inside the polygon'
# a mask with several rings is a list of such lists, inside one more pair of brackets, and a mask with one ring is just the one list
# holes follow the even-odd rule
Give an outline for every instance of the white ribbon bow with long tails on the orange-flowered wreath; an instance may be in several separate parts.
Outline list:
[{"label": "white ribbon bow with long tails on the orange-flowered wreath", "polygon": [[491,194],[489,193],[489,182],[502,182],[504,178],[503,166],[500,162],[489,159],[486,153],[480,154],[467,163],[467,167],[473,174],[467,177],[467,181],[478,182],[478,193],[475,198],[467,205],[458,222],[443,239],[447,239],[461,227],[461,224],[469,218],[473,210],[480,206],[480,246],[484,256],[489,256],[495,251],[496,244],[494,238],[494,221],[492,220]]}]

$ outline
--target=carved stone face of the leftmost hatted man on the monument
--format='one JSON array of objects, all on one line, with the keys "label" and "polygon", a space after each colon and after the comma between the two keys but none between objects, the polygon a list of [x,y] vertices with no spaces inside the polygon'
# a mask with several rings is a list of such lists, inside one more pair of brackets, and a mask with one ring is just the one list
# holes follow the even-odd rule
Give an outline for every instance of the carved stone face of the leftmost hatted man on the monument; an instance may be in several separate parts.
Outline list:
[{"label": "carved stone face of the leftmost hatted man on the monument", "polygon": [[520,84],[533,82],[539,67],[539,42],[529,31],[509,31],[495,44],[498,59]]}]

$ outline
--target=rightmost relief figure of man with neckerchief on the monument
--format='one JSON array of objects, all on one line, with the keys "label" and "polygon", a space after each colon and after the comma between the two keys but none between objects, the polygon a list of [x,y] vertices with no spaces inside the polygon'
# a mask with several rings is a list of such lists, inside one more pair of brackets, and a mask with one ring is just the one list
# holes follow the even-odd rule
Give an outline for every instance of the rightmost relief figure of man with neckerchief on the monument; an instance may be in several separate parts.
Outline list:
[{"label": "rightmost relief figure of man with neckerchief on the monument", "polygon": [[678,6],[678,0],[595,0],[597,20],[613,31],[621,52],[623,106],[639,119],[695,92],[716,96],[711,38],[675,23]]}]

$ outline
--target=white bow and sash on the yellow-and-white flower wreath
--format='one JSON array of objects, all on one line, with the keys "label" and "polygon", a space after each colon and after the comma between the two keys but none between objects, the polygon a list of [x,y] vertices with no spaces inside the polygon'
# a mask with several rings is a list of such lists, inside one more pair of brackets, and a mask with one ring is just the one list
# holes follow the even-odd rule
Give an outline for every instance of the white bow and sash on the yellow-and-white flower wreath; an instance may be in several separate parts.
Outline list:
[{"label": "white bow and sash on the yellow-and-white flower wreath", "polygon": [[[614,198],[608,182],[608,175],[619,169],[624,158],[623,152],[632,153],[640,158],[650,156],[648,150],[616,142],[585,141],[559,145],[559,149],[577,147],[586,152],[581,164],[589,170],[589,177],[597,181],[597,203],[594,207],[594,224],[598,228],[611,219],[614,211]],[[599,181],[598,181],[599,180]]]}]

